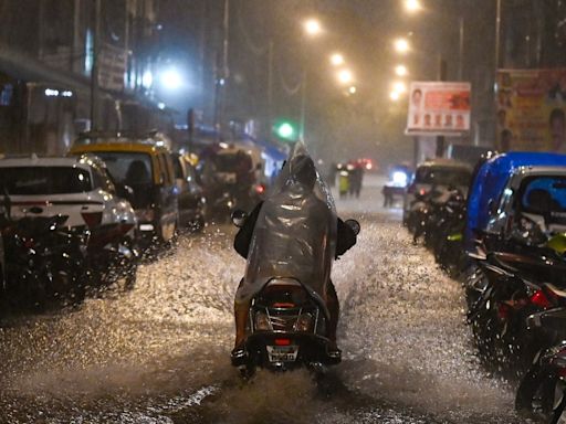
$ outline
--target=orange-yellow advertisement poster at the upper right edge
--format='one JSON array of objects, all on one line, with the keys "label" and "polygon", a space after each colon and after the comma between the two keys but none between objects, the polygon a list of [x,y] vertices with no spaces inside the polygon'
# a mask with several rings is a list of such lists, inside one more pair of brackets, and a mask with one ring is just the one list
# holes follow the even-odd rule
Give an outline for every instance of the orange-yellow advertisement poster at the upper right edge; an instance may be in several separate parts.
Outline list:
[{"label": "orange-yellow advertisement poster at the upper right edge", "polygon": [[497,148],[566,152],[566,68],[497,72]]}]

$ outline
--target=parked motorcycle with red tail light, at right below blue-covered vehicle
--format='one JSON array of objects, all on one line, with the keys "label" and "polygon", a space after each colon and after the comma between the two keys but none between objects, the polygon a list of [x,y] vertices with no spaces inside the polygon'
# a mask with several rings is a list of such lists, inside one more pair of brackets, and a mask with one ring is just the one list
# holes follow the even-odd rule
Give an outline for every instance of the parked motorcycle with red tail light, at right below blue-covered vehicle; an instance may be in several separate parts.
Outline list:
[{"label": "parked motorcycle with red tail light, at right below blue-covered vehicle", "polygon": [[[554,256],[554,261],[553,261]],[[479,269],[469,275],[469,324],[479,341],[480,353],[515,364],[531,361],[541,341],[525,327],[531,314],[555,306],[552,276],[566,271],[552,250],[524,248],[520,253],[493,252],[475,257]]]}]

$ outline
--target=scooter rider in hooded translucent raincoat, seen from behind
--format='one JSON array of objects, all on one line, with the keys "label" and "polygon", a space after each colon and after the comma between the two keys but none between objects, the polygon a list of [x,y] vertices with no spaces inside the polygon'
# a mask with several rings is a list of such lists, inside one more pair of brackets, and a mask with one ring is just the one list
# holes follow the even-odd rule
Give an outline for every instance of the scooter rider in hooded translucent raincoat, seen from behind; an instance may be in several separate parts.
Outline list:
[{"label": "scooter rider in hooded translucent raincoat, seen from behind", "polygon": [[329,190],[298,146],[268,199],[248,216],[234,240],[234,248],[248,259],[234,301],[234,352],[245,339],[252,297],[273,277],[296,278],[324,300],[331,315],[331,350],[338,351],[339,305],[331,269],[333,261],[355,243],[356,233],[336,216]]}]

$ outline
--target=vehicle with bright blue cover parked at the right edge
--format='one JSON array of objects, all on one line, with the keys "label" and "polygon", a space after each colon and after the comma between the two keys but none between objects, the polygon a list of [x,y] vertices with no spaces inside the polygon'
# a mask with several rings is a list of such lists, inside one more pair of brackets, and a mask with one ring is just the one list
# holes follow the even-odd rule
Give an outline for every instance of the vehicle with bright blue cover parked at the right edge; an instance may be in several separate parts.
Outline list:
[{"label": "vehicle with bright blue cover parked at the right edge", "polygon": [[528,229],[566,231],[566,155],[507,152],[476,170],[468,197],[465,250],[474,251],[474,241],[484,234],[511,237],[524,220],[531,221]]}]

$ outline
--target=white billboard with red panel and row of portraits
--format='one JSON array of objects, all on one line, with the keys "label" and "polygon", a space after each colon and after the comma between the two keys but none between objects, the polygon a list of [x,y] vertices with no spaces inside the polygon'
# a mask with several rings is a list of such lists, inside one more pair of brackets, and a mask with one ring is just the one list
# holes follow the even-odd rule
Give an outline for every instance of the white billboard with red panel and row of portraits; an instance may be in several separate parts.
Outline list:
[{"label": "white billboard with red panel and row of portraits", "polygon": [[470,83],[412,82],[406,134],[467,134],[470,130]]}]

